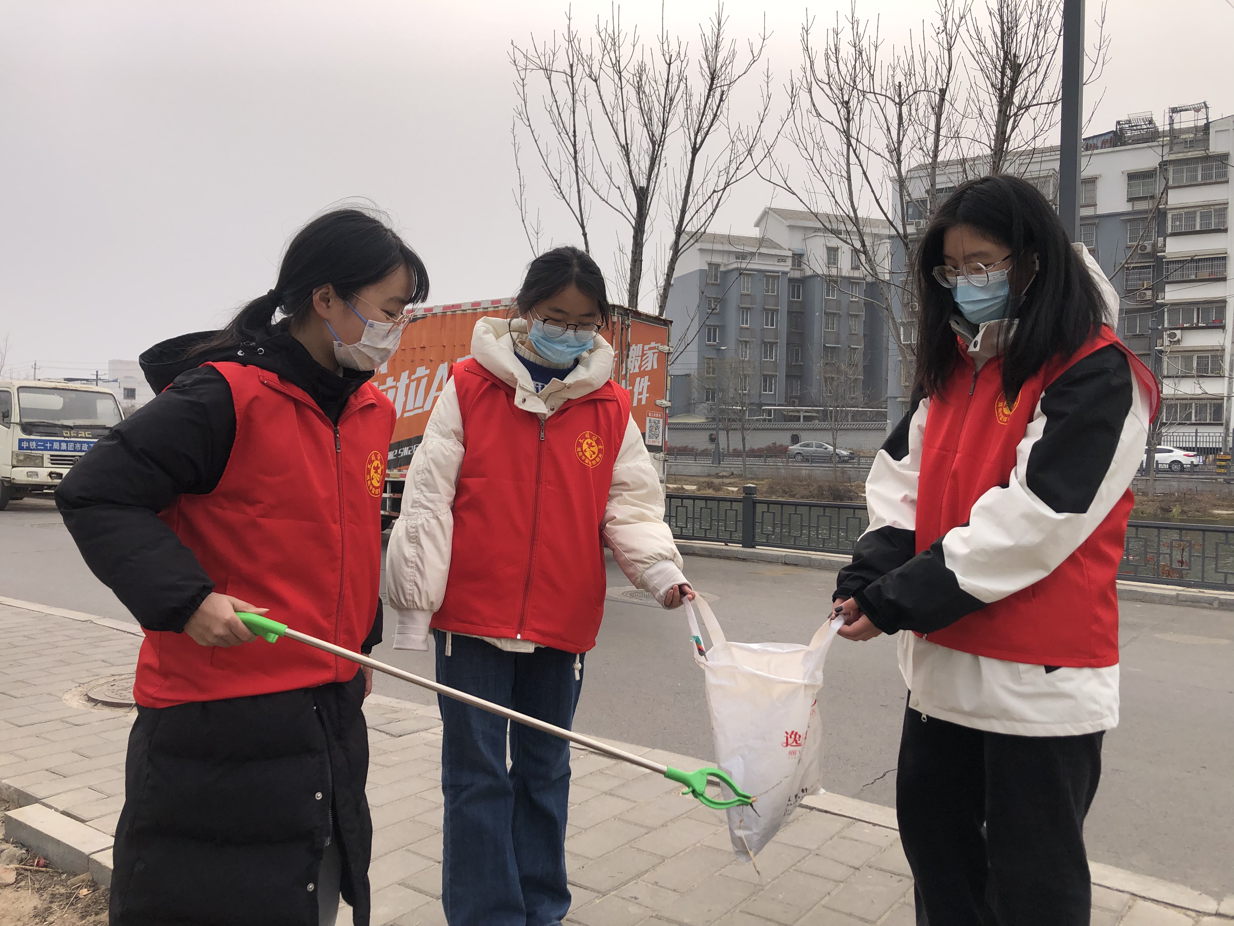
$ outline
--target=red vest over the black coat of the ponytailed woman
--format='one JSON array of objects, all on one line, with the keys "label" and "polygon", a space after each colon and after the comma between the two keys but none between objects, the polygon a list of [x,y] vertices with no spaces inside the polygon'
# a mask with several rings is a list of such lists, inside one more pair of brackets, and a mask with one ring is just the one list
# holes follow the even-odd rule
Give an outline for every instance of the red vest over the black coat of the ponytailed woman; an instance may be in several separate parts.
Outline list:
[{"label": "red vest over the black coat of the ponytailed woman", "polygon": [[[193,551],[215,591],[359,651],[378,609],[381,489],[394,406],[371,383],[338,427],[273,373],[211,363],[231,385],[236,442],[209,495],[180,495],[159,517]],[[354,663],[291,641],[197,646],[188,633],[146,631],[137,703],[290,691],[355,675]]]}]

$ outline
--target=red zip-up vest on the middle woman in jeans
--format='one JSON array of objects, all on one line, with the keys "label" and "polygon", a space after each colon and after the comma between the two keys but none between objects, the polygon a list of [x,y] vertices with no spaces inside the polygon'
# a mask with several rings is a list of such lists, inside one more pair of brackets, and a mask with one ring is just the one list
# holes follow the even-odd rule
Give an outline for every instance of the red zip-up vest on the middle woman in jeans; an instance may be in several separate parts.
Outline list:
[{"label": "red zip-up vest on the middle woman in jeans", "polygon": [[464,454],[432,626],[584,653],[605,610],[601,528],[629,398],[610,380],[542,423],[478,361],[453,375]]}]

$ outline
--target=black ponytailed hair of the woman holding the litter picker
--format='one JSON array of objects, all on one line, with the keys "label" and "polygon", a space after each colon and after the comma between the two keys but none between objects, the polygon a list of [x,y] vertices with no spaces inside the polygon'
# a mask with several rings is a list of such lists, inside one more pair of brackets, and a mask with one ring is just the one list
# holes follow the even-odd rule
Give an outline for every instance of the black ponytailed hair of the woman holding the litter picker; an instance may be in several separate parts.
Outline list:
[{"label": "black ponytailed hair of the woman holding the litter picker", "polygon": [[241,309],[227,327],[199,351],[242,344],[265,337],[281,309],[291,326],[312,311],[312,293],[327,283],[342,299],[406,267],[413,279],[412,302],[428,298],[428,270],[423,261],[389,226],[376,210],[357,207],[325,212],[288,244],[274,289]]}]

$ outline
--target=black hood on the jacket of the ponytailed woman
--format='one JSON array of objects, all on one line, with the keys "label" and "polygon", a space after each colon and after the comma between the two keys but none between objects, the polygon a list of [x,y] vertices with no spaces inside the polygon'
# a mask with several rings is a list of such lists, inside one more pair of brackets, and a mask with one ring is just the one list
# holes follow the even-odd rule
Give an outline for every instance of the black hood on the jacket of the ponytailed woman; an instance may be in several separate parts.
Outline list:
[{"label": "black hood on the jacket of the ponytailed woman", "polygon": [[[195,369],[204,363],[218,363],[227,361],[242,363],[247,367],[260,367],[278,377],[301,384],[306,373],[317,378],[317,370],[322,378],[342,379],[348,383],[354,380],[354,388],[373,378],[371,370],[343,369],[342,377],[327,370],[312,359],[304,344],[291,337],[288,320],[271,326],[255,341],[243,344],[227,344],[206,351],[196,352],[197,348],[217,337],[217,331],[195,331],[190,335],[179,335],[167,341],[160,341],[153,347],[142,352],[137,358],[146,382],[158,395],[167,389],[181,373]],[[307,362],[306,362],[307,358]],[[317,368],[313,370],[312,368]],[[328,380],[323,380],[328,382]],[[311,391],[311,390],[310,390]]]}]

